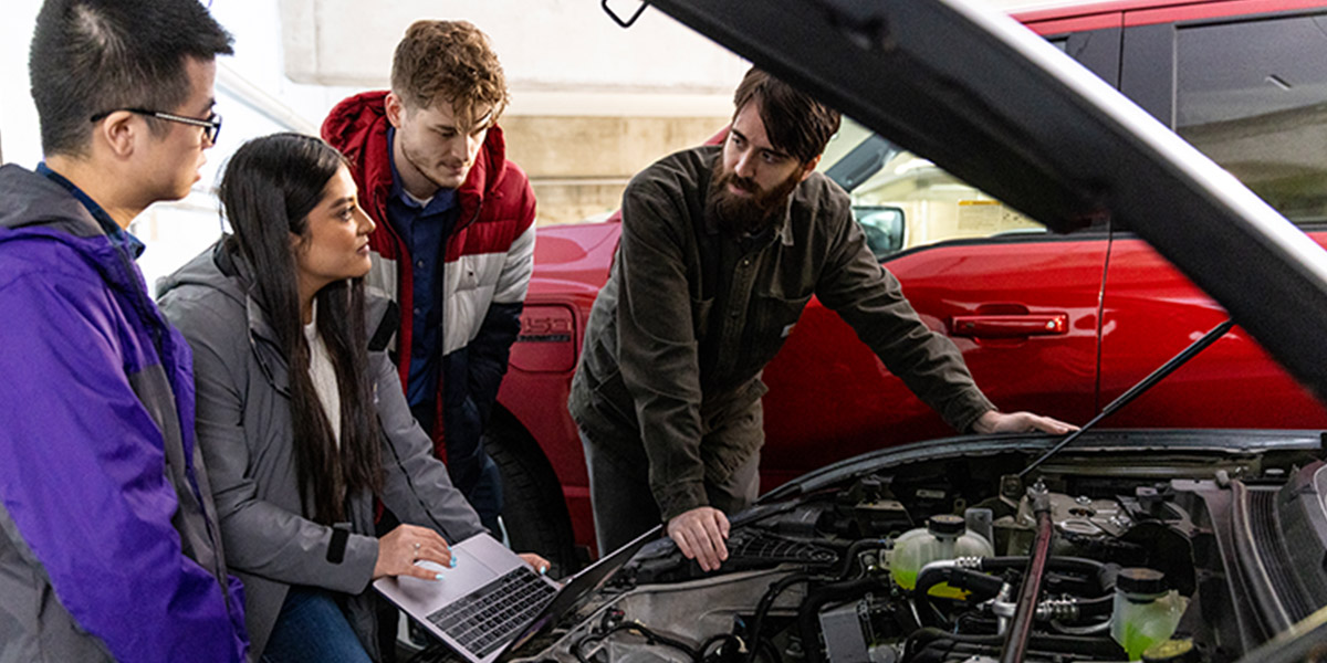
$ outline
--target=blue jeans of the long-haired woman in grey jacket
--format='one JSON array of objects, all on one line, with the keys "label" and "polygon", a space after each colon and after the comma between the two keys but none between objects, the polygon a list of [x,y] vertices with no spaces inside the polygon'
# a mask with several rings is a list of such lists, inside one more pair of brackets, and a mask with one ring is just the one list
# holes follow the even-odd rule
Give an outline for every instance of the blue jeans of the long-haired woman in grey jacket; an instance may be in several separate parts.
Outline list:
[{"label": "blue jeans of the long-haired woman in grey jacket", "polygon": [[263,650],[264,663],[372,663],[330,591],[293,585]]}]

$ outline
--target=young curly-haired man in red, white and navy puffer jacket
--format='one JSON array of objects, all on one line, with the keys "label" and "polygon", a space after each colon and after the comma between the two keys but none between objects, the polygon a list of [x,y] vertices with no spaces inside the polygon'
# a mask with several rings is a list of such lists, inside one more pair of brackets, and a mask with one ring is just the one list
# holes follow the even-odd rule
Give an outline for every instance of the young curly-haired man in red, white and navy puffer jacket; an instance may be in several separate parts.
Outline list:
[{"label": "young curly-haired man in red, white and navy puffer jacket", "polygon": [[535,196],[507,159],[502,65],[466,21],[417,21],[391,90],[338,103],[322,138],[345,152],[377,223],[368,282],[401,306],[395,361],[451,480],[498,532],[502,479],[483,448],[535,251]]}]

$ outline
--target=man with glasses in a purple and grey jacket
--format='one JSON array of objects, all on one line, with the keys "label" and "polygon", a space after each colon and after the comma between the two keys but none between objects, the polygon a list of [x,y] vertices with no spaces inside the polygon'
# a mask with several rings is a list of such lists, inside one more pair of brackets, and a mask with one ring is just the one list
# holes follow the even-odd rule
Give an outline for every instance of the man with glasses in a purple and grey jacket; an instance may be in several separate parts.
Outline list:
[{"label": "man with glasses in a purple and grey jacket", "polygon": [[200,178],[230,34],[198,0],[46,0],[29,53],[45,160],[0,167],[0,660],[243,660],[191,353],[129,233]]}]

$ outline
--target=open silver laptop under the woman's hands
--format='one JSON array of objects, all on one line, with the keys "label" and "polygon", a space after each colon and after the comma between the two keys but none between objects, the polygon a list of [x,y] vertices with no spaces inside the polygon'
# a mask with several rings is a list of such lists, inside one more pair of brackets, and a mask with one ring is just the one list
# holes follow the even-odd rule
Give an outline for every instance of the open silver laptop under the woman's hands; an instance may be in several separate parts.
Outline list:
[{"label": "open silver laptop under the woman's hands", "polygon": [[656,528],[561,585],[480,533],[451,546],[458,562],[445,579],[390,577],[373,587],[466,660],[492,663],[573,610],[657,536]]}]

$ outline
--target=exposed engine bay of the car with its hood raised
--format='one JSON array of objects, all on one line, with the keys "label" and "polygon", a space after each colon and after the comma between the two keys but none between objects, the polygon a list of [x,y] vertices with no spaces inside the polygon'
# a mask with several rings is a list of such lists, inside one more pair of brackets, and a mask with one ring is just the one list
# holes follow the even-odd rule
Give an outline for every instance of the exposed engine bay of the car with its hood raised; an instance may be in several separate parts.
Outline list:
[{"label": "exposed engine bay of the car with its hood raised", "polygon": [[518,656],[1229,662],[1327,605],[1308,453],[1076,451],[1030,483],[1024,460],[884,461],[766,500],[714,573],[660,538]]}]

